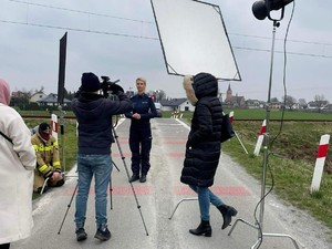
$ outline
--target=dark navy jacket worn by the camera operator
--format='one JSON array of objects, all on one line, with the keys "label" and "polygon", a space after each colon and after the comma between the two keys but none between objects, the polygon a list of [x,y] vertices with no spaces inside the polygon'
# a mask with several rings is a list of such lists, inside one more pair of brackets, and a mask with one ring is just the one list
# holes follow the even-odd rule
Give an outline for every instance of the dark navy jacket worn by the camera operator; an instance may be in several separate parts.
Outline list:
[{"label": "dark navy jacket worn by the camera operator", "polygon": [[118,101],[102,95],[82,92],[72,101],[72,110],[79,123],[79,153],[106,155],[114,142],[112,115],[133,110],[132,101],[120,92]]}]

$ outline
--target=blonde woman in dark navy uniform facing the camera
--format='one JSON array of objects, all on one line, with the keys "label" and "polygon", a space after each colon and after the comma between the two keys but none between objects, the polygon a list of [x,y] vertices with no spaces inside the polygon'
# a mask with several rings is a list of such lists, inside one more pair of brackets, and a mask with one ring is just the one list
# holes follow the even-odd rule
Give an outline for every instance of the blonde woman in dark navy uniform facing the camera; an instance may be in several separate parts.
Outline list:
[{"label": "blonde woman in dark navy uniform facing the camera", "polygon": [[149,120],[157,116],[154,101],[145,93],[146,80],[136,79],[137,94],[131,100],[133,112],[125,116],[132,120],[129,129],[129,147],[132,151],[132,172],[129,181],[146,181],[146,175],[151,167],[149,152],[152,148],[152,131]]}]

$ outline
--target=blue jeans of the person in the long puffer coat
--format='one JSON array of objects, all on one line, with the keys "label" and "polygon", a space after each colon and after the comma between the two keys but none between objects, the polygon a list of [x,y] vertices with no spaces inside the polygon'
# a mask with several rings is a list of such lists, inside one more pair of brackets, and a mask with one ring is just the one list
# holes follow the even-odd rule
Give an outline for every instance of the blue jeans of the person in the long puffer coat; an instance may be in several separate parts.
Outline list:
[{"label": "blue jeans of the person in the long puffer coat", "polygon": [[219,207],[222,205],[222,200],[216,196],[208,187],[198,187],[189,185],[189,187],[198,194],[198,204],[200,210],[200,219],[207,221],[210,220],[210,203]]}]

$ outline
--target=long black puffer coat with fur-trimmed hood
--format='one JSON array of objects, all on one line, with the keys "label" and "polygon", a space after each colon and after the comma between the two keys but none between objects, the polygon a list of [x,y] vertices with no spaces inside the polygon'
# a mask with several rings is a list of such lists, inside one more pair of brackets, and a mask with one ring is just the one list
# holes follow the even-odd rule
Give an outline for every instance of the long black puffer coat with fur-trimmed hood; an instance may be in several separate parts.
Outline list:
[{"label": "long black puffer coat with fur-trimmed hood", "polygon": [[211,74],[199,73],[194,77],[185,76],[184,87],[196,108],[186,144],[180,181],[209,187],[214,185],[221,149],[222,107],[217,97],[218,82]]}]

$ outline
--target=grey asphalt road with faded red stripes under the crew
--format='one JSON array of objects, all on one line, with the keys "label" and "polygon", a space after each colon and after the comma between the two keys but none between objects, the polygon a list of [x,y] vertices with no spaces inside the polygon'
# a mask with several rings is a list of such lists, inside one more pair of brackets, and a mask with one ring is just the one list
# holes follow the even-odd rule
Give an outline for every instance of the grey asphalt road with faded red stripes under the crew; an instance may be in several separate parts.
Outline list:
[{"label": "grey asphalt road with faded red stripes under the crew", "polygon": [[[174,118],[153,120],[152,168],[147,181],[131,185],[126,172],[127,168],[131,174],[128,126],[128,120],[118,125],[116,134],[120,146],[114,144],[112,147],[113,160],[120,169],[113,169],[112,191],[108,195],[108,227],[112,238],[105,242],[93,238],[96,228],[92,186],[85,225],[89,237],[82,242],[75,240],[74,198],[71,201],[76,186],[74,169],[68,174],[64,186],[48,191],[34,203],[33,234],[25,240],[13,242],[11,249],[245,249],[257,242],[258,229],[252,226],[253,210],[260,199],[259,180],[255,180],[229,156],[222,154],[212,190],[226,204],[236,207],[239,211],[236,218],[247,224],[238,221],[235,226],[232,222],[235,227],[229,235],[231,227],[220,229],[221,215],[211,206],[212,237],[193,236],[188,229],[196,228],[200,220],[197,200],[181,201],[175,210],[179,200],[196,197],[179,181],[189,127]],[[122,159],[122,156],[125,158]],[[264,236],[261,249],[293,249],[295,245],[290,238],[301,249],[332,248],[325,239],[328,230],[323,226],[273,195],[266,199],[262,225]]]}]

